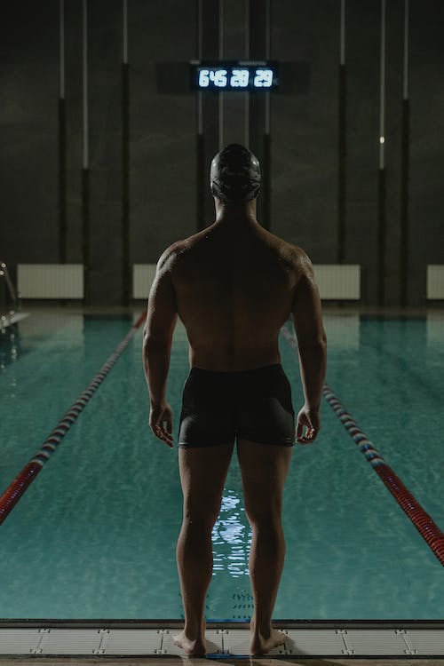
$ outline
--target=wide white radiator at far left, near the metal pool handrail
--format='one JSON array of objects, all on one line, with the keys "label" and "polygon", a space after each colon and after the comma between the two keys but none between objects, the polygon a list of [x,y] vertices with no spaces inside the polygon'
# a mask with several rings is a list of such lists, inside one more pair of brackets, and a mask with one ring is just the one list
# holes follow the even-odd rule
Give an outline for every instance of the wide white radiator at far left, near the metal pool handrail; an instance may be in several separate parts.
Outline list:
[{"label": "wide white radiator at far left, near the metal pool handrail", "polygon": [[19,264],[22,298],[83,298],[83,264]]}]

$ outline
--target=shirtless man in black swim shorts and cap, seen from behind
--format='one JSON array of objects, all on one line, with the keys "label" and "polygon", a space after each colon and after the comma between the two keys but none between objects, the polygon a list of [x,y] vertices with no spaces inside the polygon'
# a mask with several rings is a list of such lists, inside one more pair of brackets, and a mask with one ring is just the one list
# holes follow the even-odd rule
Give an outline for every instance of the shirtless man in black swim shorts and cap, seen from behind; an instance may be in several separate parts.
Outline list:
[{"label": "shirtless man in black swim shorts and cap, seen from behind", "polygon": [[295,441],[279,331],[291,314],[305,396],[297,415],[301,444],[311,444],[320,429],[326,337],[310,259],[256,219],[256,157],[241,146],[226,147],[211,163],[210,183],[216,221],[163,252],[144,329],[149,424],[171,448],[172,413],[165,395],[178,316],[189,342],[178,432],[184,511],[177,561],[185,627],[174,642],[186,654],[205,654],[211,530],[235,439],[252,530],[250,654],[266,654],[286,638],[271,620],[285,557],[282,490]]}]

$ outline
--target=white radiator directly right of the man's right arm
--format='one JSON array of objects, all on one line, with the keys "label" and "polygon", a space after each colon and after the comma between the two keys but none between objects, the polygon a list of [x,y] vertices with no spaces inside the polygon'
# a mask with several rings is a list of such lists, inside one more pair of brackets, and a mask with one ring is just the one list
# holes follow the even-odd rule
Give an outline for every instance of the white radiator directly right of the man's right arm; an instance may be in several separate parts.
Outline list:
[{"label": "white radiator directly right of the man's right arm", "polygon": [[316,264],[314,279],[321,298],[359,300],[361,298],[361,266],[359,264]]}]

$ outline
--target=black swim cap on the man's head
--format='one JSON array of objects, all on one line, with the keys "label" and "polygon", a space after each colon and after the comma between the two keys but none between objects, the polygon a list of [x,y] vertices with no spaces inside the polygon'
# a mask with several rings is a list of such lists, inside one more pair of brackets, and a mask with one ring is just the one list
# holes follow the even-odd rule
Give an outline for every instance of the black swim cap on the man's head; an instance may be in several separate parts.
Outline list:
[{"label": "black swim cap on the man's head", "polygon": [[238,143],[226,146],[211,162],[210,187],[222,202],[250,202],[259,194],[258,158]]}]

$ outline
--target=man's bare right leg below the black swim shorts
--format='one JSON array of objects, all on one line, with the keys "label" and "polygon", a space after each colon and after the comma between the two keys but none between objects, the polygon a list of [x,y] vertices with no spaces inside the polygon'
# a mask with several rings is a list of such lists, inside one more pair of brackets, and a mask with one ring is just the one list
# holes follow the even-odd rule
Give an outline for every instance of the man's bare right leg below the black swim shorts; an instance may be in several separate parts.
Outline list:
[{"label": "man's bare right leg below the black swim shorts", "polygon": [[252,529],[250,581],[254,598],[250,654],[266,654],[284,642],[271,620],[285,559],[281,526],[282,491],[291,447],[238,440],[243,496]]}]

